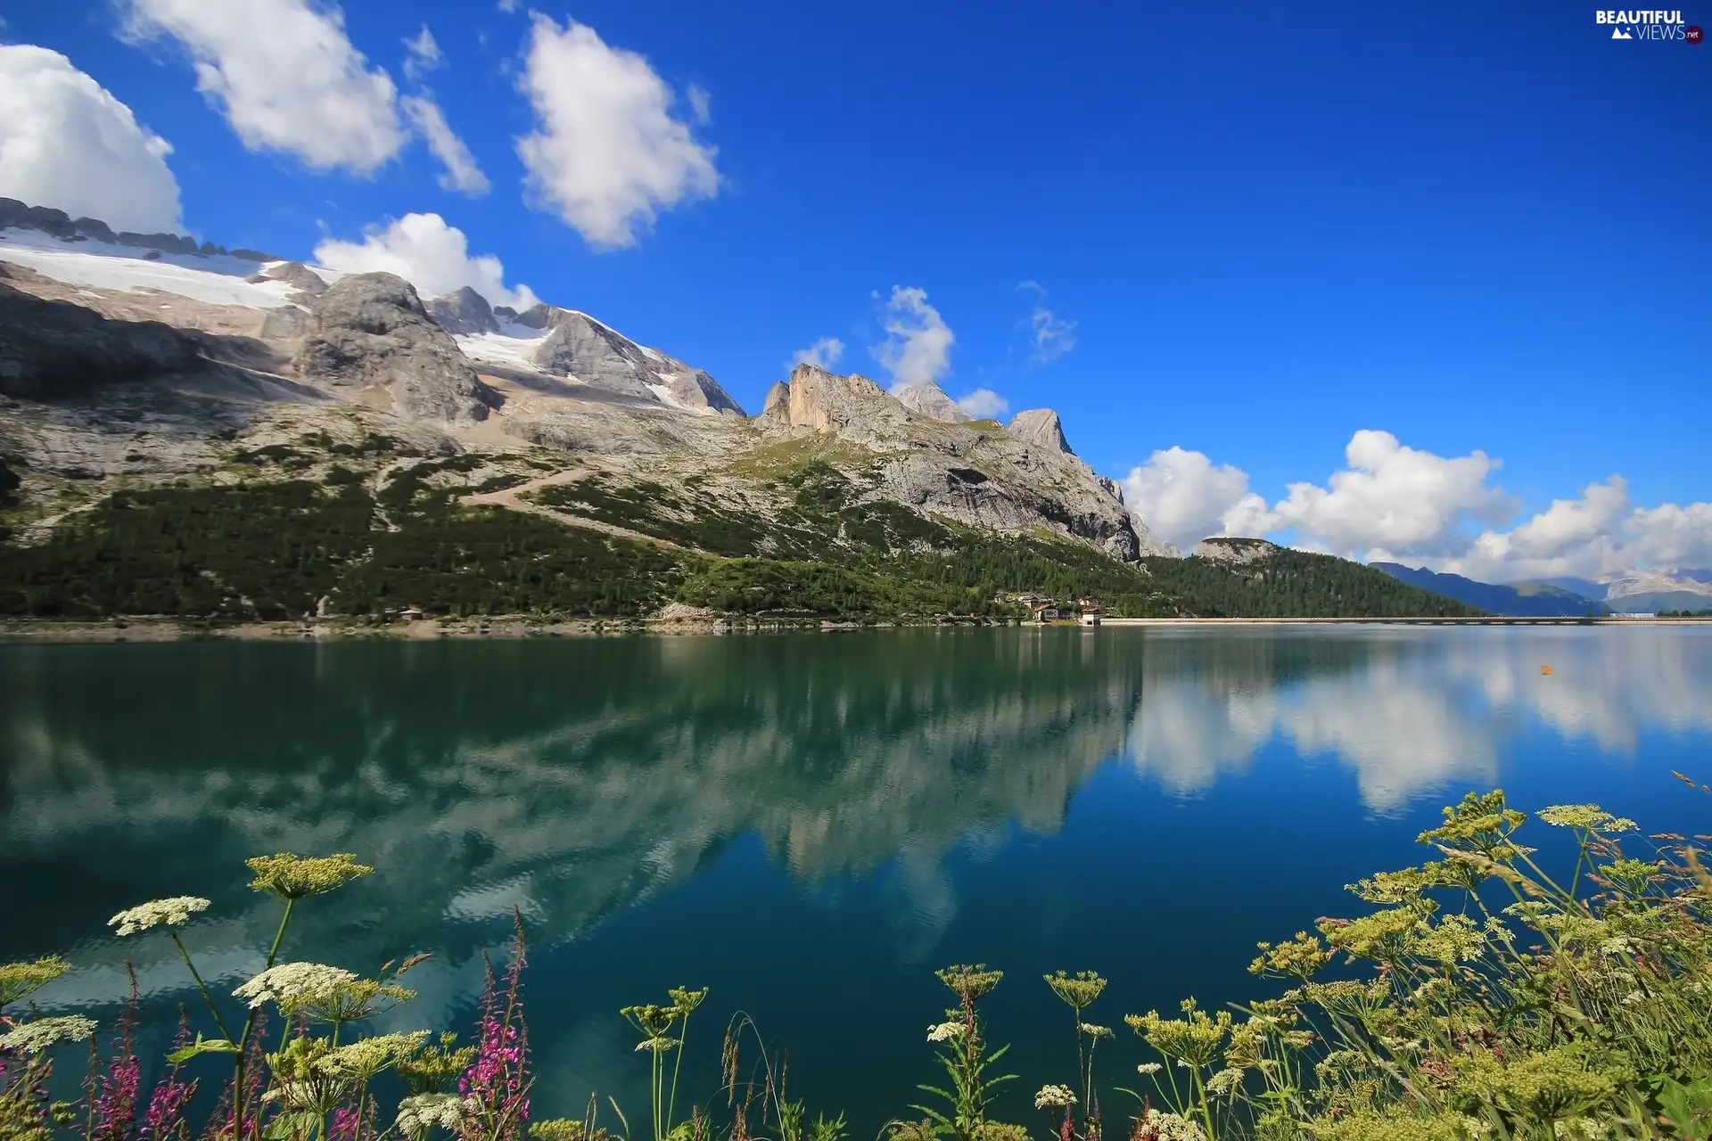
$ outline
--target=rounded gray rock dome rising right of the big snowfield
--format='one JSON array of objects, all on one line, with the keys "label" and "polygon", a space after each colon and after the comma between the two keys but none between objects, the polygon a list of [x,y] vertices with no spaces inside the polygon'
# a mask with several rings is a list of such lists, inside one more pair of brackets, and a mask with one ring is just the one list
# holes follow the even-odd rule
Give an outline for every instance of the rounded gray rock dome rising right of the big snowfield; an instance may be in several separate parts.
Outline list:
[{"label": "rounded gray rock dome rising right of the big snowfield", "polygon": [[498,400],[416,289],[392,274],[351,274],[329,286],[310,311],[296,364],[334,387],[385,388],[414,419],[481,421]]}]

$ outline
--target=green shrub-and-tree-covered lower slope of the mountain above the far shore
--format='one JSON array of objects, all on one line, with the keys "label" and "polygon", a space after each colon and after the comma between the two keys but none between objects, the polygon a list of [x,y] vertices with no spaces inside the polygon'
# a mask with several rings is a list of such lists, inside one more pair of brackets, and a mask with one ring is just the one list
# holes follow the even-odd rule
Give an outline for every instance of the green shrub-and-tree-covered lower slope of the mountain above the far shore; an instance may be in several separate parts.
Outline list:
[{"label": "green shrub-and-tree-covered lower slope of the mountain above the far shore", "polygon": [[421,457],[380,436],[235,448],[229,460],[228,477],[241,481],[84,493],[29,542],[26,523],[41,518],[41,503],[9,503],[0,614],[635,616],[676,600],[741,614],[907,619],[1015,616],[1002,595],[1022,590],[1096,595],[1113,616],[1471,612],[1327,556],[1130,566],[1051,534],[993,535],[865,501],[859,481],[823,462],[770,472],[753,503],[729,488],[589,476],[524,493],[538,510],[520,511],[464,500],[572,462]]}]

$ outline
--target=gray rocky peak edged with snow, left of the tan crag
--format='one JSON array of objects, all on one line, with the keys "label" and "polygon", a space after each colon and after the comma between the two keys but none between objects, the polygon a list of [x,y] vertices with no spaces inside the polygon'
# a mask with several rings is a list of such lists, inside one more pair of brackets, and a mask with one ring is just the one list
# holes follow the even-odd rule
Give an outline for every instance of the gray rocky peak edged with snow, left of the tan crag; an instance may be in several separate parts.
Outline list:
[{"label": "gray rocky peak edged with snow, left of the tan crag", "polygon": [[591,388],[651,404],[745,414],[731,393],[702,369],[644,349],[586,313],[539,304],[520,313],[517,323],[551,330],[532,361],[555,376],[574,376]]}]

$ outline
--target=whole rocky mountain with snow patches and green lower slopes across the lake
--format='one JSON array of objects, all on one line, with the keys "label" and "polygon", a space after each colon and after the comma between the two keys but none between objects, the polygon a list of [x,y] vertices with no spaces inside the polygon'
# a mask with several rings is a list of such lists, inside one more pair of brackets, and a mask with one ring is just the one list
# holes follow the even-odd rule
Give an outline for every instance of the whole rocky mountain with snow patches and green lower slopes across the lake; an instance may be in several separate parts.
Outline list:
[{"label": "whole rocky mountain with snow patches and green lower slopes across the lake", "polygon": [[1051,409],[801,364],[748,416],[579,310],[0,226],[0,614],[1469,612],[1270,544],[1185,559]]}]

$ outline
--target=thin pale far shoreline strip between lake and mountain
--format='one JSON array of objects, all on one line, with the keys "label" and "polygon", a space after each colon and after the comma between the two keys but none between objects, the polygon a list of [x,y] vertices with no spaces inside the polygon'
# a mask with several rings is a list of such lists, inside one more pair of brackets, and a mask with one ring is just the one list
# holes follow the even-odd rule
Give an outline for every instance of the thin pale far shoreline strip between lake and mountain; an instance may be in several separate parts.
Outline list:
[{"label": "thin pale far shoreline strip between lake and mountain", "polygon": [[[164,641],[440,641],[478,638],[625,638],[752,633],[853,633],[943,626],[1082,628],[1077,623],[1007,619],[847,621],[815,618],[447,618],[366,623],[346,619],[209,623],[178,618],[0,619],[0,645],[164,643]],[[1712,626],[1712,618],[1108,618],[1103,626]]]}]

